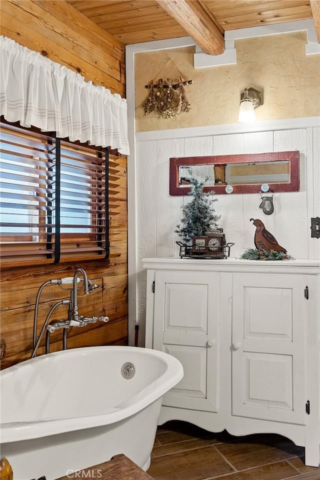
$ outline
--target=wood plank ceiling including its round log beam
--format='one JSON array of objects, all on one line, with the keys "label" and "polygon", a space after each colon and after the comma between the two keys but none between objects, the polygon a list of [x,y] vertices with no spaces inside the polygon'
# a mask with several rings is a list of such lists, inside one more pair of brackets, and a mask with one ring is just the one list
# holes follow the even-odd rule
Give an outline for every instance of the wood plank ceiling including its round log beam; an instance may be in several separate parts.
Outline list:
[{"label": "wood plank ceiling including its round log beam", "polygon": [[221,53],[224,30],[303,20],[312,14],[317,26],[320,15],[320,0],[66,1],[124,44],[190,35],[211,54]]}]

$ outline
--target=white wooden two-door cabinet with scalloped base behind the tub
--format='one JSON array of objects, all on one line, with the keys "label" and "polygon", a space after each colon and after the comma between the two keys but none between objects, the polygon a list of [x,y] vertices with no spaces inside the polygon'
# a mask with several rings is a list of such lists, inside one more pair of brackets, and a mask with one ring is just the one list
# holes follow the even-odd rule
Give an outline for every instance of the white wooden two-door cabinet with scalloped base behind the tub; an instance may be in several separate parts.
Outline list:
[{"label": "white wooden two-door cabinet with scalloped base behind the tub", "polygon": [[320,262],[150,258],[143,266],[146,346],[184,368],[159,422],[279,433],[318,466]]}]

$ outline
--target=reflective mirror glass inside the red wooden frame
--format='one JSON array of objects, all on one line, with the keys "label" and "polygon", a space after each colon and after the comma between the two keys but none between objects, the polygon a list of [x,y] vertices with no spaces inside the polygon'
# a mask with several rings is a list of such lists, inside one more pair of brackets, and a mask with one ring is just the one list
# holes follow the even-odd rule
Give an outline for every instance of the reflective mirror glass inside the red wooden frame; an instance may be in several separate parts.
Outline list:
[{"label": "reflective mirror glass inside the red wooden frame", "polygon": [[190,185],[190,176],[197,178],[198,181],[204,181],[207,178],[205,185],[208,187],[227,184],[289,183],[290,162],[286,159],[215,165],[180,165],[178,167],[180,188]]}]

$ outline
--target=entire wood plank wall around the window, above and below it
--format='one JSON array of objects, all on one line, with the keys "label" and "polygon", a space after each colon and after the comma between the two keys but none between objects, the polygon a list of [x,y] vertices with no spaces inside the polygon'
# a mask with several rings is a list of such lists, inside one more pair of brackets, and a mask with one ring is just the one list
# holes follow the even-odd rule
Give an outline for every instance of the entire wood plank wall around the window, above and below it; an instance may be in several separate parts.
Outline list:
[{"label": "entire wood plank wall around the window, above and below it", "polygon": [[[41,52],[53,61],[81,73],[86,80],[124,96],[124,46],[71,5],[54,0],[1,0],[1,34]],[[126,158],[110,155],[110,256],[104,261],[2,268],[0,277],[1,368],[29,358],[32,350],[33,312],[36,292],[48,279],[72,276],[78,267],[99,288],[78,299],[79,314],[109,316],[68,332],[68,348],[127,344],[127,206]],[[38,332],[50,309],[68,298],[58,286],[46,286],[41,294]],[[66,318],[67,305],[52,319]],[[51,335],[51,351],[61,349],[62,332]],[[43,341],[41,343],[43,345]],[[2,348],[1,348],[2,350]],[[44,352],[43,346],[38,350]]]}]

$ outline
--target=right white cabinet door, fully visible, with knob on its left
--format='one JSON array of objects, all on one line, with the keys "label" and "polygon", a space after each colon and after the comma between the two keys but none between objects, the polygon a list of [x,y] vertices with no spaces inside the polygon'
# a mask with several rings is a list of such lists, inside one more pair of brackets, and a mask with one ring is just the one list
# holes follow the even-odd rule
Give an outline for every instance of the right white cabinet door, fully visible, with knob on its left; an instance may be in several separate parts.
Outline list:
[{"label": "right white cabinet door, fully visible, with knob on its left", "polygon": [[233,275],[233,415],[305,423],[305,282]]}]

